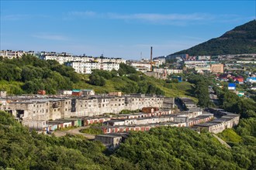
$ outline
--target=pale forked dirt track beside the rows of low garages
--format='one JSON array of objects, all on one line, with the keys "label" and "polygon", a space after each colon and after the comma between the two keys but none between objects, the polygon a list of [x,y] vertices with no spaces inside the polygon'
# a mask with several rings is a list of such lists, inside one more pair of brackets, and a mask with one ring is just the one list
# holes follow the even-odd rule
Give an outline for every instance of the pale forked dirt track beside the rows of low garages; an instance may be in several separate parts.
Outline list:
[{"label": "pale forked dirt track beside the rows of low garages", "polygon": [[58,130],[58,131],[54,131],[54,134],[57,137],[65,136],[66,134],[81,134],[81,135],[85,136],[85,138],[95,139],[94,134],[84,134],[84,133],[80,132],[81,129],[85,129],[85,128],[89,128],[89,126],[74,128],[74,129],[70,129],[70,130],[67,130],[67,131],[59,131]]}]

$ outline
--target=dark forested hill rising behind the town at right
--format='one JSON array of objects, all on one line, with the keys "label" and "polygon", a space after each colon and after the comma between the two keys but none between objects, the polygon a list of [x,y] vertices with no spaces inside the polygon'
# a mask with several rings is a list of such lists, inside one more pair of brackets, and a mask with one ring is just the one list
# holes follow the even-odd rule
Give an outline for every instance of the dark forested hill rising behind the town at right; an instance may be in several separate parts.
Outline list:
[{"label": "dark forested hill rising behind the town at right", "polygon": [[256,20],[237,26],[219,38],[210,39],[175,54],[184,53],[189,56],[256,53]]}]

